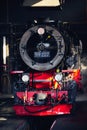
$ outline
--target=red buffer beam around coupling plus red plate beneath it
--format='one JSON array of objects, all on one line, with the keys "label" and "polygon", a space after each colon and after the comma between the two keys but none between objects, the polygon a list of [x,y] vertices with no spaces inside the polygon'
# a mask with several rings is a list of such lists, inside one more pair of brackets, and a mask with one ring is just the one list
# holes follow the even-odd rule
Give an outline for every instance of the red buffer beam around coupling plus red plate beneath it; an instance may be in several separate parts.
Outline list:
[{"label": "red buffer beam around coupling plus red plate beneath it", "polygon": [[[32,92],[17,92],[17,96],[25,100],[24,105],[14,105],[14,110],[17,115],[33,115],[33,116],[48,116],[48,115],[62,115],[62,114],[70,114],[72,109],[72,104],[47,104],[47,105],[35,105],[32,97],[34,93],[40,93],[39,91]],[[54,91],[43,91],[43,93],[51,94],[51,96],[56,98],[56,90]],[[67,96],[67,91],[60,91],[58,93],[58,100],[62,98],[62,95],[65,94]]]}]

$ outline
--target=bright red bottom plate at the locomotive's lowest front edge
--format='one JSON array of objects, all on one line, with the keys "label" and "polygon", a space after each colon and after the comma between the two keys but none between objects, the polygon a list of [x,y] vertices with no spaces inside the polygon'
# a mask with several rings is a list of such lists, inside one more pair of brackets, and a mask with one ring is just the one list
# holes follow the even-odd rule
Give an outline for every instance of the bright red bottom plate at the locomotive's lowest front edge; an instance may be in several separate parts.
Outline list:
[{"label": "bright red bottom plate at the locomotive's lowest front edge", "polygon": [[50,116],[50,115],[63,115],[70,114],[72,104],[58,104],[55,106],[23,106],[15,105],[14,110],[20,116]]}]

